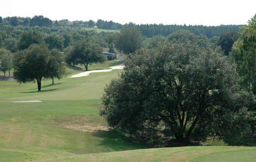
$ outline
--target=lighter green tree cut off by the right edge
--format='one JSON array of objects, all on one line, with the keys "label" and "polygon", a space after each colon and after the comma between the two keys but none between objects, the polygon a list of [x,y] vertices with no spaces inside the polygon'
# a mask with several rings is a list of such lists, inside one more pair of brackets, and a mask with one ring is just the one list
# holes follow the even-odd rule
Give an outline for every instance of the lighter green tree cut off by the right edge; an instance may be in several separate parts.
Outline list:
[{"label": "lighter green tree cut off by the right edge", "polygon": [[256,14],[240,28],[240,37],[232,47],[231,57],[242,77],[242,86],[256,94]]}]

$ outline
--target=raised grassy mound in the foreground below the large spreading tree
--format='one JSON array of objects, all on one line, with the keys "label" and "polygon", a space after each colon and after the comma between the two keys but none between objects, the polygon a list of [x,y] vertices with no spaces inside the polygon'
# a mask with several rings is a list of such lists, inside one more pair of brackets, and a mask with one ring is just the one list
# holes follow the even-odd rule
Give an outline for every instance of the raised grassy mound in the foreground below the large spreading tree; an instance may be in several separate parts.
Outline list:
[{"label": "raised grassy mound in the foreground below the large spreading tree", "polygon": [[190,146],[150,148],[51,158],[44,162],[251,162],[255,160],[255,147],[240,146]]}]

